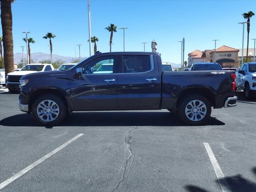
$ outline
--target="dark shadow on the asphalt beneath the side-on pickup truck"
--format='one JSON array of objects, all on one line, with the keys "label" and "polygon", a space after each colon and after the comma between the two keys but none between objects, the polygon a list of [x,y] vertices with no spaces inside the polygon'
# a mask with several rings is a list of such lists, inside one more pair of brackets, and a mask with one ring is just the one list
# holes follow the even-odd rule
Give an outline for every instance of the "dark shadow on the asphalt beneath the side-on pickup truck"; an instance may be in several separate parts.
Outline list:
[{"label": "dark shadow on the asphalt beneath the side-on pickup truck", "polygon": [[[36,126],[31,115],[18,114],[0,121],[2,126]],[[225,125],[210,117],[207,125]],[[59,126],[187,126],[170,112],[78,112]]]}]

